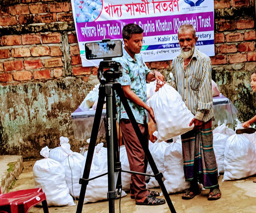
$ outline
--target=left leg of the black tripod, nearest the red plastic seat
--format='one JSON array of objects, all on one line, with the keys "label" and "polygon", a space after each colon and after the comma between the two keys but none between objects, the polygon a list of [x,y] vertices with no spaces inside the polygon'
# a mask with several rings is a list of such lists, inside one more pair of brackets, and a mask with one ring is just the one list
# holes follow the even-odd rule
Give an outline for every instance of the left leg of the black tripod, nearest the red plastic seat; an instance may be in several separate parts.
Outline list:
[{"label": "left leg of the black tripod, nearest the red plastic seat", "polygon": [[98,98],[97,108],[96,108],[96,112],[95,112],[95,117],[93,120],[93,128],[91,131],[91,139],[90,139],[86,162],[85,162],[85,166],[84,166],[83,178],[80,179],[80,181],[79,181],[79,183],[82,184],[82,186],[81,186],[81,190],[80,190],[76,213],[82,213],[82,209],[83,209],[84,196],[85,196],[85,192],[86,192],[86,187],[88,185],[87,179],[89,178],[89,174],[90,174],[90,170],[91,170],[91,163],[93,161],[93,153],[94,153],[94,148],[95,148],[95,144],[96,144],[96,140],[97,140],[97,136],[98,136],[99,124],[101,122],[101,115],[102,115],[104,100],[105,100],[105,87],[103,85],[100,85],[99,86],[99,98]]}]

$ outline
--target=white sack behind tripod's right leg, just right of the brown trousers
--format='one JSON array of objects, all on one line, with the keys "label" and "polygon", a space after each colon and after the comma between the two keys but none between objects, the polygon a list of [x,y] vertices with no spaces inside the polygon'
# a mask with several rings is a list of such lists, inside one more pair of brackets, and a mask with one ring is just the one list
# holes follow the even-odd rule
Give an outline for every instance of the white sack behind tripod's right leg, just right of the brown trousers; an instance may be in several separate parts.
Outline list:
[{"label": "white sack behind tripod's right leg, just right of the brown trousers", "polygon": [[[165,171],[165,160],[164,160],[164,155],[165,155],[165,149],[166,147],[168,147],[169,144],[166,143],[165,141],[159,142],[159,140],[157,140],[152,148],[151,148],[151,155],[154,159],[155,164],[157,165],[157,169],[159,172],[161,172],[162,174]],[[154,175],[153,171],[150,171],[151,175]],[[147,188],[154,188],[154,187],[158,187],[159,184],[157,182],[157,180],[154,177],[150,177],[150,180],[148,183],[146,183],[146,187]]]}]

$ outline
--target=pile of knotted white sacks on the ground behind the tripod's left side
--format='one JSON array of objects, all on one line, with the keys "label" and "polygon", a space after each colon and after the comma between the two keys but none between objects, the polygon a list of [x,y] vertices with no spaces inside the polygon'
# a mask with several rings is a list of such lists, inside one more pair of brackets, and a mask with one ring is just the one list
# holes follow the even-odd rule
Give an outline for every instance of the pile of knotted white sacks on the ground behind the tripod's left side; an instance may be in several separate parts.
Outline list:
[{"label": "pile of knotted white sacks on the ground behind the tripod's left side", "polygon": [[[41,187],[45,192],[48,205],[63,206],[75,205],[73,198],[79,198],[81,185],[79,179],[83,176],[87,151],[84,156],[70,149],[68,138],[60,137],[60,146],[50,150],[42,148],[40,154],[44,159],[37,160],[33,167],[35,187]],[[107,172],[107,149],[103,143],[95,147],[91,164],[90,178]],[[120,159],[122,167],[128,165],[125,147],[121,147]],[[126,169],[125,170],[129,170]],[[122,174],[123,190],[129,189],[130,174]],[[89,181],[86,188],[84,203],[106,200],[108,193],[108,176]],[[121,196],[126,193],[122,191]]]}]

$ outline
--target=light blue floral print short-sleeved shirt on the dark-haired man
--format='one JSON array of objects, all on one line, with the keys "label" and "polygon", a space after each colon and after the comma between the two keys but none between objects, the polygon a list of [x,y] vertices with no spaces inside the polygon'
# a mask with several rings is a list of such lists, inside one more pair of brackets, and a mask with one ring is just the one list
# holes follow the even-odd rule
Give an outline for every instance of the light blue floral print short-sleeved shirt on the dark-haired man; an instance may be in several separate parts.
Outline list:
[{"label": "light blue floral print short-sleeved shirt on the dark-haired man", "polygon": [[[150,72],[147,65],[143,61],[141,54],[135,54],[135,60],[123,49],[123,56],[116,58],[115,61],[119,62],[123,67],[123,76],[117,78],[116,81],[122,86],[131,85],[131,90],[143,101],[147,101],[147,86],[146,77]],[[148,113],[146,109],[140,107],[134,102],[128,100],[128,104],[132,113],[139,124],[148,123]],[[121,104],[121,117],[119,117],[120,100],[117,97],[117,119],[129,119],[125,112],[123,104]]]}]

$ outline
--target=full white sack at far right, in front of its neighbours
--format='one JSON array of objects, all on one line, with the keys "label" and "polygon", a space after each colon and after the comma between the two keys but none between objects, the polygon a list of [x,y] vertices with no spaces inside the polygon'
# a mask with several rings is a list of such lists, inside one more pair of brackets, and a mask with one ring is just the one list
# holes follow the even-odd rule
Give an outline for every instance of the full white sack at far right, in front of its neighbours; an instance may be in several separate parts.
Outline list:
[{"label": "full white sack at far right, in front of its neighbours", "polygon": [[256,174],[256,153],[253,143],[235,134],[227,139],[224,152],[223,181],[241,179]]}]

